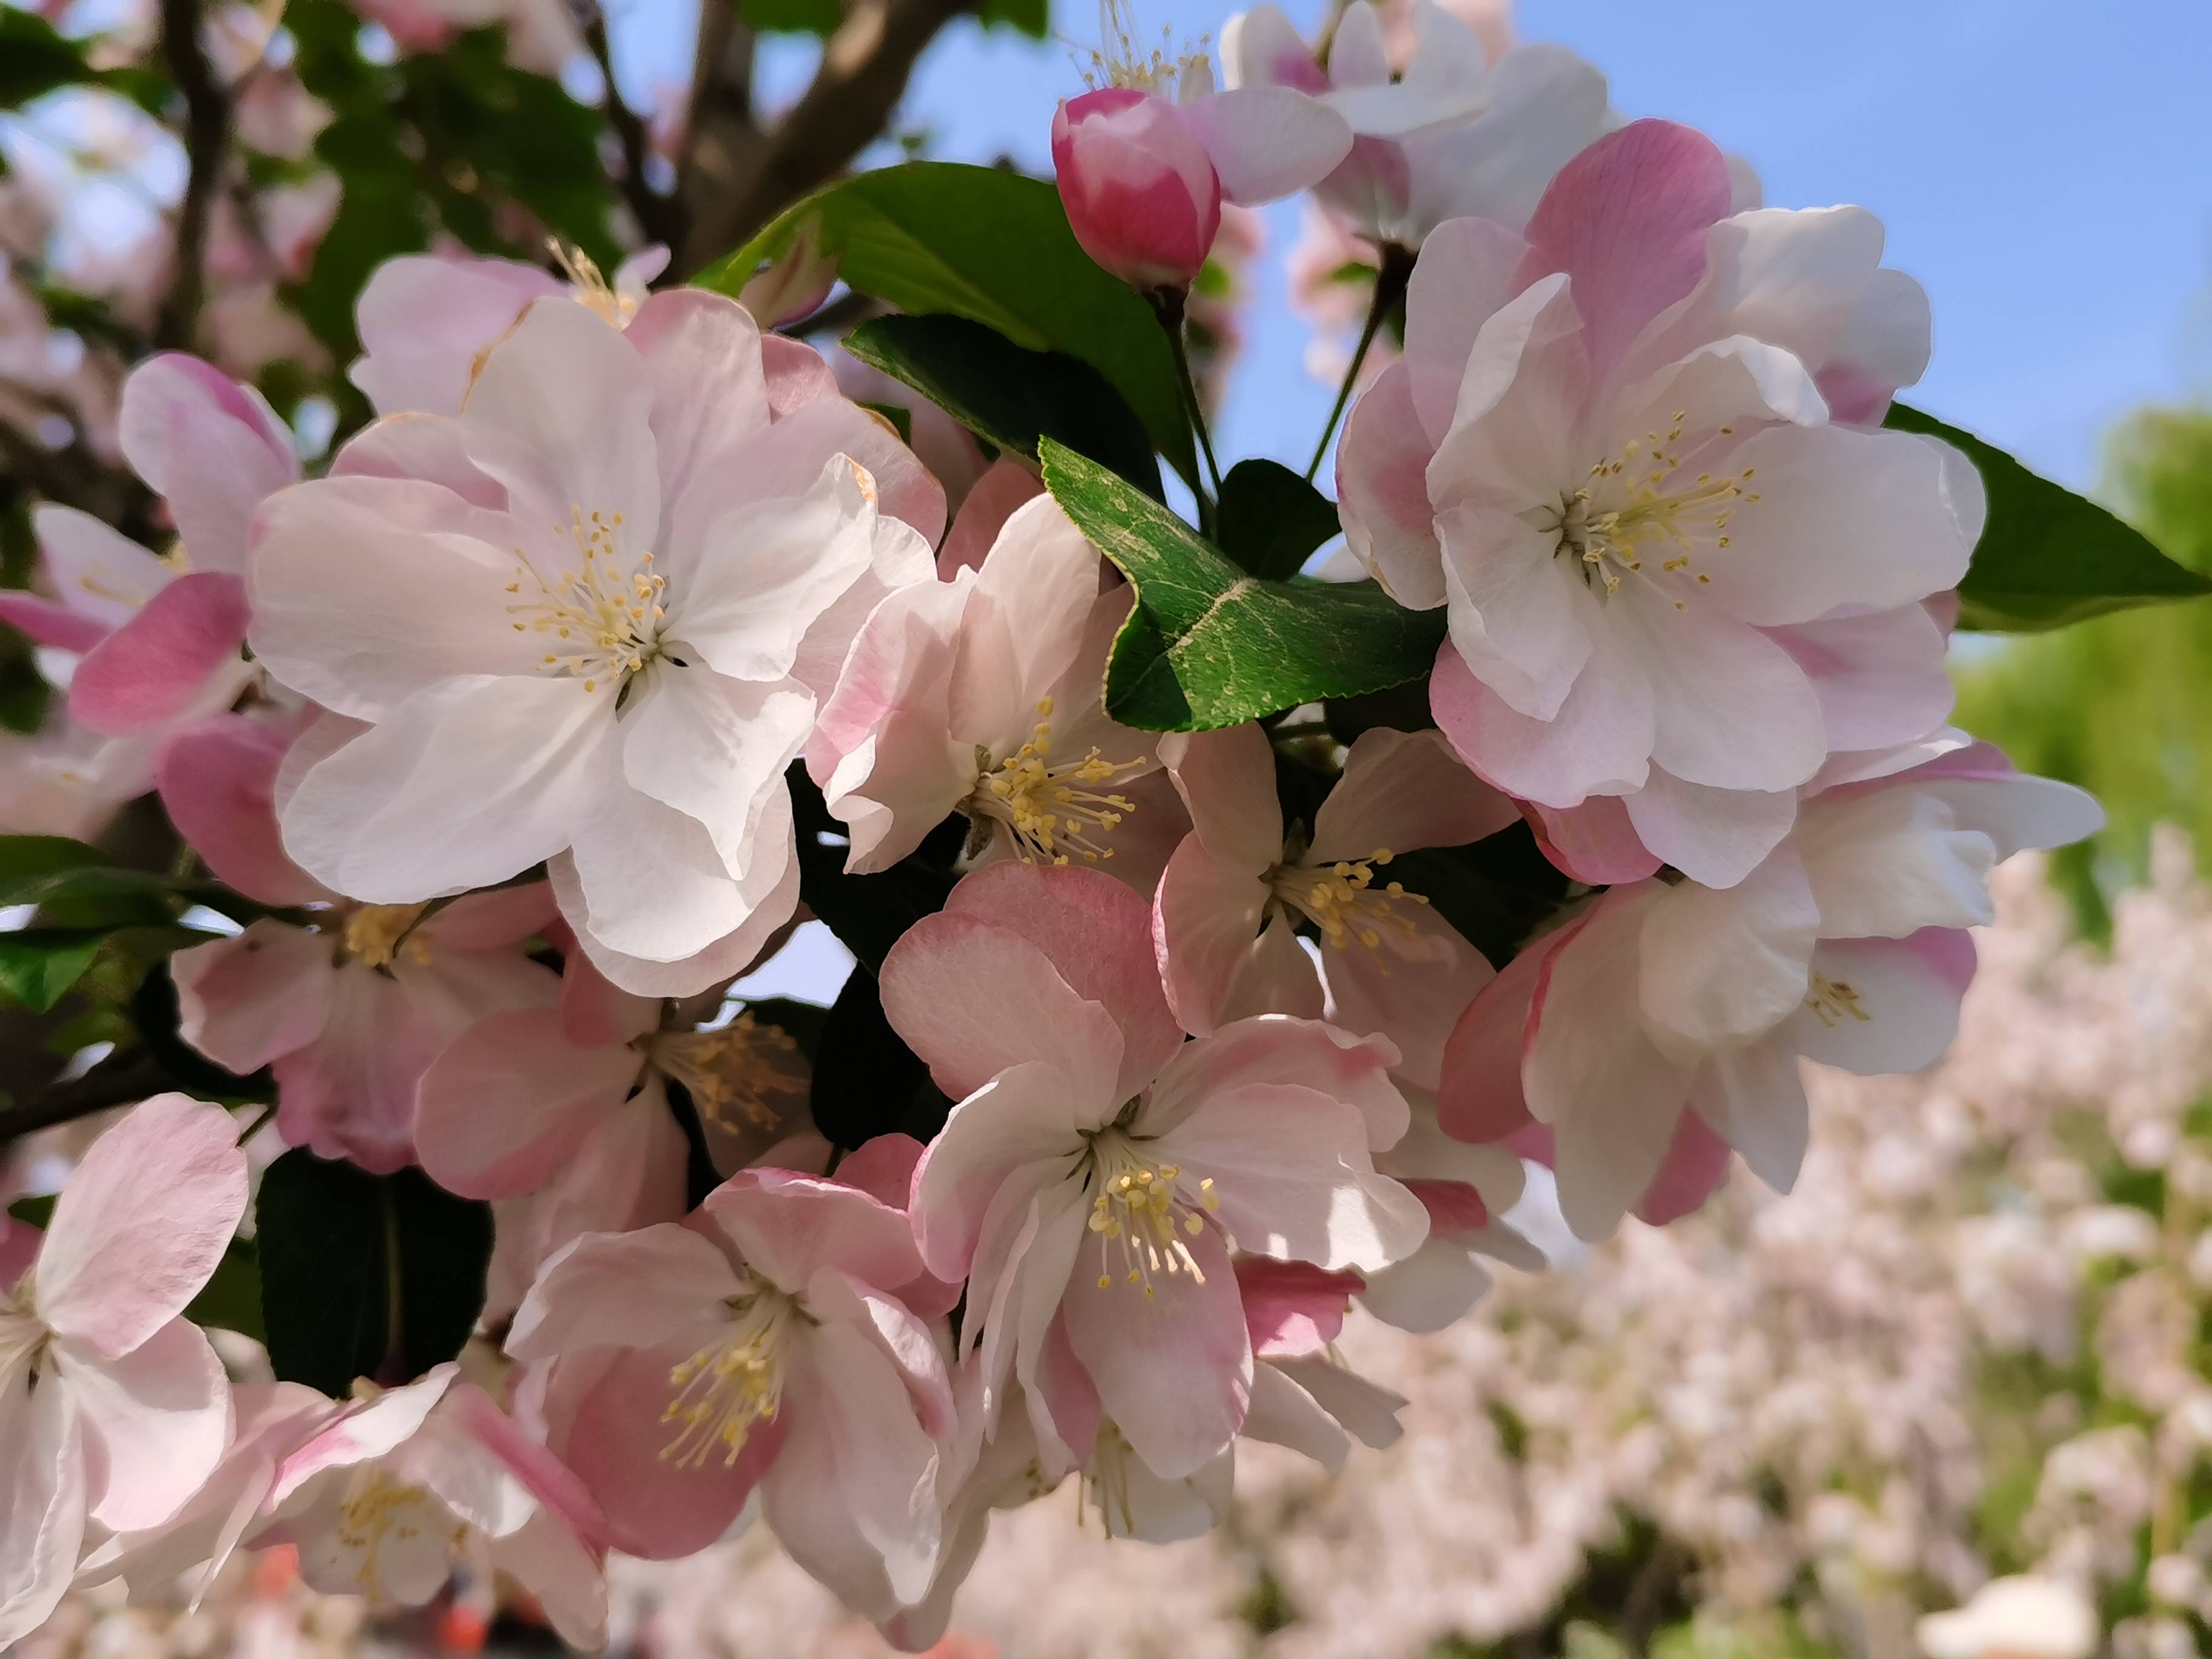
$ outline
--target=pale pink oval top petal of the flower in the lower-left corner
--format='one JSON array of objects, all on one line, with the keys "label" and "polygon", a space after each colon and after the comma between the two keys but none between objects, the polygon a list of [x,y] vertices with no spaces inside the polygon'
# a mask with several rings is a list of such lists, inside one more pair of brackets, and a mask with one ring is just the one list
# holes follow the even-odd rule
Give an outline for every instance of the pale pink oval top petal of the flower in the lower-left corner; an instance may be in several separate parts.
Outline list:
[{"label": "pale pink oval top petal of the flower in the lower-left corner", "polygon": [[38,1256],[38,1314],[119,1358],[184,1312],[246,1214],[246,1152],[221,1106],[155,1095],[71,1172]]}]

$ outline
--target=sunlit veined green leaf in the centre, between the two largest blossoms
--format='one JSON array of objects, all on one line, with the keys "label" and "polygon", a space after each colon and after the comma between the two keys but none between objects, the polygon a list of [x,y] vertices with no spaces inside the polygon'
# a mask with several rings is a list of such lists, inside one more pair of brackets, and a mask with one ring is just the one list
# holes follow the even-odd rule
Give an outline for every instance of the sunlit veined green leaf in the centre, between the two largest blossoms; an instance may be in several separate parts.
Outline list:
[{"label": "sunlit veined green leaf in the centre, between the two largest blossoms", "polygon": [[1374,582],[1265,582],[1159,502],[1044,442],[1044,484],[1137,586],[1106,664],[1106,712],[1146,732],[1208,732],[1296,703],[1420,679],[1442,611]]}]

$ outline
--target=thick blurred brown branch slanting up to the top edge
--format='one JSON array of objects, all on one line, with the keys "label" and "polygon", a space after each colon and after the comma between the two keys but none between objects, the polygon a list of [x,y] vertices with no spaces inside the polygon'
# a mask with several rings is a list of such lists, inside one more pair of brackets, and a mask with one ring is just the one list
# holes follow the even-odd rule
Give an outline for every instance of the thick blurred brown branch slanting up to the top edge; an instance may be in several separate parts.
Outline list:
[{"label": "thick blurred brown branch slanting up to the top edge", "polygon": [[737,170],[714,157],[701,159],[701,199],[692,204],[684,270],[730,252],[807,190],[843,173],[891,119],[914,60],[947,22],[973,9],[975,0],[852,0],[845,22],[823,46],[814,84],[754,164]]}]

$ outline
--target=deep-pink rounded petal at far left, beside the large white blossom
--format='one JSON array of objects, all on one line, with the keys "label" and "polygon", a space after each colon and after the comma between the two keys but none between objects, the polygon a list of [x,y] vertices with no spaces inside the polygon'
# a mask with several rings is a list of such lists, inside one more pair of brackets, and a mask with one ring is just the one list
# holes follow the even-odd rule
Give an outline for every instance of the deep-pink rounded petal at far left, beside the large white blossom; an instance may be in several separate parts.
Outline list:
[{"label": "deep-pink rounded petal at far left, beside the large white blossom", "polygon": [[210,681],[237,664],[250,615],[241,577],[177,577],[86,653],[69,681],[69,712],[111,737],[195,712]]}]

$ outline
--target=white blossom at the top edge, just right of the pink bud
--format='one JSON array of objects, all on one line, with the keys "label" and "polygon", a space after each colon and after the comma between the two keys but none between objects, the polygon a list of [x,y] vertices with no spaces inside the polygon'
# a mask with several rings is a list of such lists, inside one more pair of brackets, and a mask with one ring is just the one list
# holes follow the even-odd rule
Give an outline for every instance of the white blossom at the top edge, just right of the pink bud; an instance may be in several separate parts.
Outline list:
[{"label": "white blossom at the top edge, just right of the pink bud", "polygon": [[1471,215],[1517,230],[1553,175],[1608,128],[1606,77],[1551,44],[1493,60],[1462,18],[1433,4],[1411,13],[1413,51],[1394,75],[1369,0],[1338,13],[1325,62],[1281,11],[1254,7],[1221,35],[1225,80],[1294,86],[1352,124],[1352,153],[1314,197],[1367,241],[1411,252]]}]

